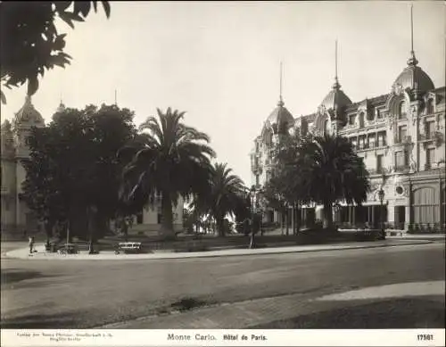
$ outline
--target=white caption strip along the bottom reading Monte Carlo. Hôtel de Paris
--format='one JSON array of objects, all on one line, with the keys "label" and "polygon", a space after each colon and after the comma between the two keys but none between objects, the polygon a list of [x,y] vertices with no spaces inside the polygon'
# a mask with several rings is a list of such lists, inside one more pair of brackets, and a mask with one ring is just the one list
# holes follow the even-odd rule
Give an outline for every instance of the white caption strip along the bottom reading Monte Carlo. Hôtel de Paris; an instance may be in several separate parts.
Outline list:
[{"label": "white caption strip along the bottom reading Monte Carlo. H\u00f4tel de Paris", "polygon": [[[169,335],[184,336],[176,339]],[[225,338],[232,335],[234,338]],[[187,337],[188,336],[188,337]],[[37,346],[444,346],[445,329],[215,330],[2,329],[2,347]]]}]

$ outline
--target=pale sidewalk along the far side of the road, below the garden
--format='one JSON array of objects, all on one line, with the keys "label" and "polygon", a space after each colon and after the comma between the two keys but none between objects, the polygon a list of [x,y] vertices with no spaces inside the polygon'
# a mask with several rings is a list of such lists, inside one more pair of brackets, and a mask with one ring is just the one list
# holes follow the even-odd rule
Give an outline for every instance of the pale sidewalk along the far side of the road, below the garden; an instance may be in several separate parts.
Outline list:
[{"label": "pale sidewalk along the far side of the road, below the garden", "polygon": [[140,254],[115,254],[114,252],[100,252],[99,254],[88,254],[79,252],[78,254],[61,255],[58,253],[45,252],[44,246],[37,246],[37,252],[30,255],[29,248],[21,248],[10,252],[5,252],[2,257],[26,260],[160,260],[160,259],[182,259],[182,258],[209,258],[209,257],[229,257],[256,254],[279,254],[292,252],[322,252],[338,251],[361,248],[394,247],[402,245],[431,244],[432,241],[417,239],[405,240],[401,237],[389,237],[383,241],[358,242],[346,244],[318,244],[318,245],[296,245],[275,248],[259,249],[228,249],[209,252],[150,252]]}]

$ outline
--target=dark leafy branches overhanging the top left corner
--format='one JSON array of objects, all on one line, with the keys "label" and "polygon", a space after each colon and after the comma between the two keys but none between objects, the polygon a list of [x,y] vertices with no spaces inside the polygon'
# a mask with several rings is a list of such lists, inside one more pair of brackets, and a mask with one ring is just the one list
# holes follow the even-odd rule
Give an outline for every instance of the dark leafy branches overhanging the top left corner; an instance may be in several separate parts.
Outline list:
[{"label": "dark leafy branches overhanging the top left corner", "polygon": [[[110,3],[102,1],[109,18]],[[38,77],[54,66],[64,68],[71,57],[64,52],[66,34],[59,34],[54,21],[60,18],[74,29],[85,21],[97,1],[2,1],[0,2],[0,70],[3,87],[28,83],[28,95],[38,89]],[[4,92],[1,101],[6,103]]]}]

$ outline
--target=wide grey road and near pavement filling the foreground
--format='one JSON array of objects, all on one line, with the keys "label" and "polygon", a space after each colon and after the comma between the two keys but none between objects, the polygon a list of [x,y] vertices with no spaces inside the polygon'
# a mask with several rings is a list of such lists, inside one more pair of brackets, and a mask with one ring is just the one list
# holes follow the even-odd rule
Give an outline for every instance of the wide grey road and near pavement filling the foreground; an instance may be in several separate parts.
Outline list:
[{"label": "wide grey road and near pavement filling the foreground", "polygon": [[[444,295],[439,293],[444,273],[442,243],[183,260],[2,260],[2,327],[185,327],[186,315],[200,318],[186,327],[302,326],[299,317],[305,318],[303,326],[313,322],[310,327],[321,327],[327,321],[335,326],[333,316],[318,316],[324,310],[343,317],[343,327],[374,327],[369,317],[376,307],[378,327],[444,327]],[[435,289],[427,290],[422,301],[393,297],[387,306],[360,302],[361,318],[352,318],[349,301],[314,300],[393,284],[406,284],[401,293],[408,292],[409,284],[419,292],[426,283]],[[221,303],[227,304],[211,306]],[[190,307],[202,309],[168,314]],[[232,314],[242,318],[230,319]]]}]

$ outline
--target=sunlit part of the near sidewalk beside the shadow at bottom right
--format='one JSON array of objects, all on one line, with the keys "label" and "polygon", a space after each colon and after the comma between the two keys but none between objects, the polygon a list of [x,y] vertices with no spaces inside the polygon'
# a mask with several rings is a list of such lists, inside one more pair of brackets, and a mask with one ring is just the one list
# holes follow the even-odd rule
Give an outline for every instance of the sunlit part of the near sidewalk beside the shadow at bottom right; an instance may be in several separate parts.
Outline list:
[{"label": "sunlit part of the near sidewalk beside the shadow at bottom right", "polygon": [[[96,328],[165,329],[169,326],[169,329],[202,329],[205,326],[208,329],[249,329],[278,320],[310,314],[315,315],[318,312],[329,312],[336,309],[349,310],[357,306],[360,307],[366,302],[422,298],[426,295],[435,296],[435,302],[438,302],[438,305],[441,307],[444,281],[397,283],[350,291],[340,289],[335,291],[335,293],[330,289],[329,291],[322,291],[322,293],[324,292],[328,294],[320,296],[321,293],[316,293],[315,296],[314,293],[293,293],[244,302],[221,303],[184,312],[170,311],[168,314],[141,317],[105,326],[97,326]],[[357,314],[358,311],[360,312],[361,308],[357,310]],[[368,312],[371,314],[369,318],[383,320],[380,317],[380,313],[382,314],[383,312],[377,311]],[[392,314],[390,308],[384,309],[385,311]],[[367,316],[368,313],[364,312],[363,316]],[[374,314],[375,317],[373,317]],[[335,322],[330,324],[335,324]]]}]

